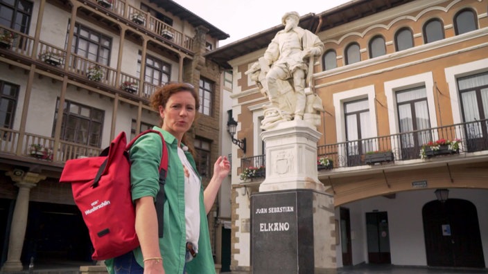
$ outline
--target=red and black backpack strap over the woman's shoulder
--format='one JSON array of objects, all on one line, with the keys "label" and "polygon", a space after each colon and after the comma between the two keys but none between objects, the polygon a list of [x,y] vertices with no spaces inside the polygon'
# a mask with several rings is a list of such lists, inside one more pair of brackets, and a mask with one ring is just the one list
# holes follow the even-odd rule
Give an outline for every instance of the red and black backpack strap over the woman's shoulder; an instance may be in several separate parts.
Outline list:
[{"label": "red and black backpack strap over the woman's shoulder", "polygon": [[163,154],[161,157],[161,163],[159,164],[159,192],[157,192],[156,195],[156,202],[155,202],[155,208],[156,208],[156,214],[157,214],[157,231],[159,238],[163,237],[163,224],[164,224],[164,202],[166,201],[166,194],[164,193],[164,185],[166,184],[166,174],[168,173],[168,148],[166,147],[166,142],[164,141],[164,137],[161,134],[161,132],[154,130],[154,129],[148,129],[146,131],[141,132],[139,135],[137,135],[134,139],[130,141],[130,143],[127,145],[125,148],[126,151],[129,151],[130,147],[134,144],[134,142],[137,140],[137,138],[143,136],[144,134],[148,133],[155,133],[159,134],[161,136],[161,140],[163,143]]}]

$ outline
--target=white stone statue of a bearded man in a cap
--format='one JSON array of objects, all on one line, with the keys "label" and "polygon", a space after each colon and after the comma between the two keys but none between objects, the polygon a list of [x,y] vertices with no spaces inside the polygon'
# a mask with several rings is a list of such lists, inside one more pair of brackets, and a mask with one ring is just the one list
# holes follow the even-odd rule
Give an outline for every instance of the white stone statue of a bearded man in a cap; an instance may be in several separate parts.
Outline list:
[{"label": "white stone statue of a bearded man in a cap", "polygon": [[286,12],[281,21],[285,29],[275,35],[263,57],[245,72],[270,100],[261,128],[271,129],[292,119],[317,127],[323,107],[313,92],[311,76],[314,59],[322,55],[324,44],[317,35],[298,26],[297,12]]}]

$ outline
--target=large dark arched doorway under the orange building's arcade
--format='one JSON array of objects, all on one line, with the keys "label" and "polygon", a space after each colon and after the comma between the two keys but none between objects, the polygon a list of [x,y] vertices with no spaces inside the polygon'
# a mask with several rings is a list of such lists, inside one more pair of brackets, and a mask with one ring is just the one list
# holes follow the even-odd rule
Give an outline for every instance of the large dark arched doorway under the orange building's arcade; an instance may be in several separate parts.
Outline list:
[{"label": "large dark arched doorway under the orange building's arcade", "polygon": [[428,266],[484,268],[476,206],[462,199],[431,201],[422,208]]}]

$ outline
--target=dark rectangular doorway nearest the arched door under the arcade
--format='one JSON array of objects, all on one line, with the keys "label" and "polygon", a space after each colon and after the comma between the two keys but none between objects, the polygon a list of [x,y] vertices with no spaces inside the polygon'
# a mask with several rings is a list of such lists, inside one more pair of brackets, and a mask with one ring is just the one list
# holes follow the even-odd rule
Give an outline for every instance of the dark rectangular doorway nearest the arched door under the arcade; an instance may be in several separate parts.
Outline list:
[{"label": "dark rectangular doorway nearest the arched door under the arcade", "polygon": [[391,264],[387,212],[366,213],[366,232],[369,264]]}]

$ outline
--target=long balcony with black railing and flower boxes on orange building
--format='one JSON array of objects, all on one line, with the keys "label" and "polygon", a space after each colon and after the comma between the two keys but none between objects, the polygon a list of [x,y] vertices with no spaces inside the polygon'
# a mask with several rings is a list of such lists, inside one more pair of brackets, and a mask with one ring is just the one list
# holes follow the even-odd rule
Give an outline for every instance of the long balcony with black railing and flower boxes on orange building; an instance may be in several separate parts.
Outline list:
[{"label": "long balcony with black railing and flower boxes on orange building", "polygon": [[[457,125],[410,131],[402,134],[354,140],[317,147],[317,156],[327,158],[332,166],[317,170],[333,172],[340,167],[406,165],[410,160],[440,159],[464,154],[464,158],[488,150],[488,119]],[[488,153],[486,154],[488,155]],[[447,158],[446,158],[447,157]],[[241,159],[241,170],[265,165],[265,155]],[[346,169],[347,170],[347,169]],[[242,172],[241,171],[241,172]],[[264,179],[265,174],[259,179]]]}]

